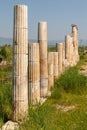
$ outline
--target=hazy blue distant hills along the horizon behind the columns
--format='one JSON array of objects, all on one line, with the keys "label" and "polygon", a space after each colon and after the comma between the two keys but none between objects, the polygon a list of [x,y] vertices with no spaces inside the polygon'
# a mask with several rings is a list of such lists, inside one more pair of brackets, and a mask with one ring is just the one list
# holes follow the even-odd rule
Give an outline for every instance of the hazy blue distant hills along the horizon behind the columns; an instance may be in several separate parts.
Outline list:
[{"label": "hazy blue distant hills along the horizon behind the columns", "polygon": [[[34,43],[34,42],[37,42],[35,39],[30,39],[29,40],[29,43]],[[63,42],[62,40],[51,40],[51,41],[48,41],[48,45],[50,46],[55,46],[56,43],[58,42]],[[0,37],[0,45],[5,45],[5,44],[12,44],[13,43],[13,39],[12,38],[4,38],[4,37]],[[79,40],[79,45],[81,46],[87,46],[87,40],[83,40],[83,39],[80,39]]]}]

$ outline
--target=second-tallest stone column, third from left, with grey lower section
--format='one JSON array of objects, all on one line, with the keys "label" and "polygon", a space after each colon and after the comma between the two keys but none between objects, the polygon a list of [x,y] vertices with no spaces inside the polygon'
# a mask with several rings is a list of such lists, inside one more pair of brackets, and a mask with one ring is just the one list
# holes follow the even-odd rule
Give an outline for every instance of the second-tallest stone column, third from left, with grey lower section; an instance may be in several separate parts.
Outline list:
[{"label": "second-tallest stone column, third from left, with grey lower section", "polygon": [[47,96],[48,92],[48,65],[47,65],[47,23],[38,23],[38,42],[40,46],[40,94]]}]

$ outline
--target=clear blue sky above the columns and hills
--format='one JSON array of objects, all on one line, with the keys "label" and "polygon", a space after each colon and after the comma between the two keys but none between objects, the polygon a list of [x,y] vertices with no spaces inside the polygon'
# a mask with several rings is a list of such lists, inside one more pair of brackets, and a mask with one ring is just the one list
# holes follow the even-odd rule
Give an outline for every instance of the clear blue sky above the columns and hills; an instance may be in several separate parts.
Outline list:
[{"label": "clear blue sky above the columns and hills", "polygon": [[29,39],[37,40],[38,22],[46,21],[48,40],[64,40],[77,24],[79,39],[87,39],[87,0],[0,0],[0,37],[13,37],[14,5],[28,6]]}]

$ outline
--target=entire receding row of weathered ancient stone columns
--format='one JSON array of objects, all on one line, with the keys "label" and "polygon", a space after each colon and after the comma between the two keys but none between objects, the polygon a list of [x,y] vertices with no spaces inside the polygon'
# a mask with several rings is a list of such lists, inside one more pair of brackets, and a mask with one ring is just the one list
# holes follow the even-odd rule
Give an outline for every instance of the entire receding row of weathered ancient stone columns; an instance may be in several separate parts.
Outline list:
[{"label": "entire receding row of weathered ancient stone columns", "polygon": [[[47,97],[54,81],[65,68],[79,60],[77,26],[56,52],[47,52],[47,23],[38,23],[38,42],[28,45],[27,6],[14,7],[13,33],[13,120],[24,119],[28,105]],[[73,63],[75,62],[75,63]]]}]

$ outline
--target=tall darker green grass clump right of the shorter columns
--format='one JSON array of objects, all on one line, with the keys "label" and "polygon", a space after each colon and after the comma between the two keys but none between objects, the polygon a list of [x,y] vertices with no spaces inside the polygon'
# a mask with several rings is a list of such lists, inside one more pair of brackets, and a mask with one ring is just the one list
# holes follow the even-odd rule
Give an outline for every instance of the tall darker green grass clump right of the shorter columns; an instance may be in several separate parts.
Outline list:
[{"label": "tall darker green grass clump right of the shorter columns", "polygon": [[87,89],[87,77],[79,74],[76,67],[72,67],[55,81],[54,86],[57,89],[62,88],[66,92],[81,93]]}]

